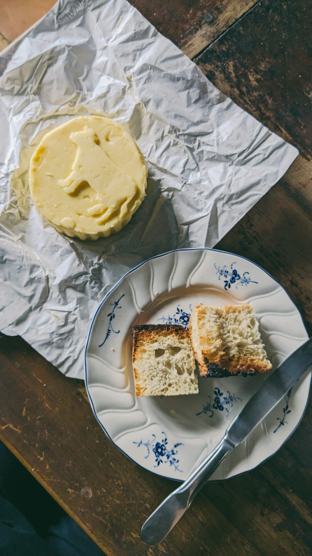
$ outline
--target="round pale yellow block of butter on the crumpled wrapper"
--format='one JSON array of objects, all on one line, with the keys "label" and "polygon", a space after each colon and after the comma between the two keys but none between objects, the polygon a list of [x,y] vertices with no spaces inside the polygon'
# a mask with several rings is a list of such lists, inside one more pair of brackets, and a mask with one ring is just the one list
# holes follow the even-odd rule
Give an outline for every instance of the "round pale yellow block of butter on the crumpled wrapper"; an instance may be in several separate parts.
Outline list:
[{"label": "round pale yellow block of butter on the crumpled wrapper", "polygon": [[76,117],[43,137],[29,183],[35,205],[58,231],[97,239],[118,232],[138,209],[147,166],[119,123]]}]

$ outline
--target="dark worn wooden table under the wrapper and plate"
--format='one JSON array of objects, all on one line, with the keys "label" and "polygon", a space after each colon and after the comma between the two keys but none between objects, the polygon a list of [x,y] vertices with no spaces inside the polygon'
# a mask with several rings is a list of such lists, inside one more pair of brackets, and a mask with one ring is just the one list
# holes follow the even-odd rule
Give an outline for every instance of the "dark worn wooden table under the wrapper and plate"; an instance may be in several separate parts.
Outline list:
[{"label": "dark worn wooden table under the wrapper and plate", "polygon": [[[54,0],[2,0],[0,49]],[[308,0],[134,0],[210,81],[300,156],[218,244],[289,292],[312,335],[311,12]],[[308,556],[311,406],[290,440],[248,474],[205,485],[158,547],[140,539],[174,486],[122,455],[93,418],[84,384],[19,337],[0,336],[0,438],[109,556]],[[309,540],[310,539],[310,540]]]}]

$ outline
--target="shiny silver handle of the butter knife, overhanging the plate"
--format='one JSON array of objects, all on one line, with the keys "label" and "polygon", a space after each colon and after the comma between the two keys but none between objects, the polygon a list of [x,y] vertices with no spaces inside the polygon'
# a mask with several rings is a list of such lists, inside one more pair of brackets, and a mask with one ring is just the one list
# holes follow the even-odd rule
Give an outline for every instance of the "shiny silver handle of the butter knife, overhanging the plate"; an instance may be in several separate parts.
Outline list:
[{"label": "shiny silver handle of the butter knife, overhanging the plate", "polygon": [[154,510],[141,530],[142,538],[146,543],[158,544],[168,535],[174,525],[182,518],[195,495],[233,448],[233,444],[227,440],[225,435],[199,465],[198,469]]}]

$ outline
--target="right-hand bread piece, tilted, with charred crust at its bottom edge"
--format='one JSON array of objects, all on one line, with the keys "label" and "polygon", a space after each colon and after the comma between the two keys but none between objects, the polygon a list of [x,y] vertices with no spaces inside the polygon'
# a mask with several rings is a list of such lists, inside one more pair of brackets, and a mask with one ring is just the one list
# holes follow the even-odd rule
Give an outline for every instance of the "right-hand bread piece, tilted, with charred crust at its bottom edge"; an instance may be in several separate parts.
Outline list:
[{"label": "right-hand bread piece, tilted, with charred crust at its bottom edge", "polygon": [[200,376],[247,376],[272,367],[250,305],[198,305],[189,334]]}]

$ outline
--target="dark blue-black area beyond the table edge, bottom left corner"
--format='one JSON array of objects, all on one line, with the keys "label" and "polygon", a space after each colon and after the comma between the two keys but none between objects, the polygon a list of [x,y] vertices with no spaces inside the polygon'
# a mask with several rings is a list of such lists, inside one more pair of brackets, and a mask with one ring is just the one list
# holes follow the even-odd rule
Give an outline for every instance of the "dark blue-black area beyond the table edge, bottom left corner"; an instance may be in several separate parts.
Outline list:
[{"label": "dark blue-black area beyond the table edge, bottom left corner", "polygon": [[104,554],[1,442],[0,554]]}]

